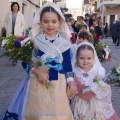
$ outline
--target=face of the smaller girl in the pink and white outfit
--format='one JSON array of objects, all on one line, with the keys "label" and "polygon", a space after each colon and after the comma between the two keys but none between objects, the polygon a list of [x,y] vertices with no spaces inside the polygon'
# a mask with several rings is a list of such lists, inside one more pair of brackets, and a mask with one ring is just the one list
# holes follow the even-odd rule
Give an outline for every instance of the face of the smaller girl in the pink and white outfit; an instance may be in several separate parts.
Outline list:
[{"label": "face of the smaller girl in the pink and white outfit", "polygon": [[84,70],[89,71],[93,65],[94,53],[92,50],[80,50],[77,56],[78,66]]}]

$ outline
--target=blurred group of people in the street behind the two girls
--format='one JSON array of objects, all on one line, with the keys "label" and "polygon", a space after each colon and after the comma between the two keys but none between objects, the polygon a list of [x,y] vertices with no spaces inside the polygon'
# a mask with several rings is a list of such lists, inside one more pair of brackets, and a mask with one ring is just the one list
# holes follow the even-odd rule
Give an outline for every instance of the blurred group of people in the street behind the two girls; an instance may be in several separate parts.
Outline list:
[{"label": "blurred group of people in the street behind the two girls", "polygon": [[[85,15],[85,20],[83,16],[78,16],[77,21],[75,21],[74,18],[68,18],[66,20],[70,32],[71,32],[71,42],[75,43],[75,41],[78,41],[79,34],[82,34],[83,32],[87,32],[87,34],[90,37],[90,41],[95,45],[100,41],[100,37],[102,36],[102,30],[99,25],[98,19],[92,19],[90,18],[89,14]],[[74,37],[74,34],[76,37]],[[83,38],[84,39],[84,38]]]}]

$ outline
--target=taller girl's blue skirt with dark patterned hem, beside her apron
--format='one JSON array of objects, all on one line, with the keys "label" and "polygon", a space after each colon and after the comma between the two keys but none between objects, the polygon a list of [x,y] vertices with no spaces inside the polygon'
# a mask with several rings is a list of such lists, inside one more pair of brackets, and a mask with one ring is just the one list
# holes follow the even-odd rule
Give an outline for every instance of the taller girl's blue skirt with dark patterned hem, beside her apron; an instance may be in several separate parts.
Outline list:
[{"label": "taller girl's blue skirt with dark patterned hem, beside her apron", "polygon": [[3,120],[22,120],[21,113],[30,76],[25,77],[19,85]]}]

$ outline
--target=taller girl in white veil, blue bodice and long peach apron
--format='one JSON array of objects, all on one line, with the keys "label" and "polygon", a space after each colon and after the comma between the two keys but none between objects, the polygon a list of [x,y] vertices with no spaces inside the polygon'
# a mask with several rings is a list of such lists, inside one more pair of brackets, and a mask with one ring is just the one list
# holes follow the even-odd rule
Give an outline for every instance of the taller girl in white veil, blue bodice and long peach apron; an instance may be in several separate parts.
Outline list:
[{"label": "taller girl in white veil, blue bodice and long peach apron", "polygon": [[[32,68],[33,75],[22,81],[4,120],[72,120],[66,94],[66,85],[74,88],[73,95],[76,92],[70,59],[70,32],[56,4],[46,3],[38,11],[32,35],[33,55],[44,62],[46,71],[42,67]],[[46,83],[51,86],[50,91]]]}]

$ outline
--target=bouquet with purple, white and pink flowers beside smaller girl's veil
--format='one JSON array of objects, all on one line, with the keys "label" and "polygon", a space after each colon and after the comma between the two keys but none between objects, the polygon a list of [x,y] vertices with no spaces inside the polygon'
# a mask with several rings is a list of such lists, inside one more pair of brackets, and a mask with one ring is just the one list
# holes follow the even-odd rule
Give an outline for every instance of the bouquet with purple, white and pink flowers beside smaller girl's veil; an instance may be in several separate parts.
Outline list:
[{"label": "bouquet with purple, white and pink flowers beside smaller girl's veil", "polygon": [[95,46],[97,56],[100,60],[100,62],[106,62],[111,60],[111,51],[107,45],[105,45],[103,42],[97,43]]}]

